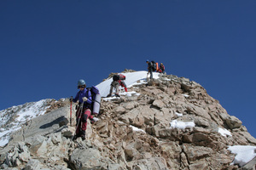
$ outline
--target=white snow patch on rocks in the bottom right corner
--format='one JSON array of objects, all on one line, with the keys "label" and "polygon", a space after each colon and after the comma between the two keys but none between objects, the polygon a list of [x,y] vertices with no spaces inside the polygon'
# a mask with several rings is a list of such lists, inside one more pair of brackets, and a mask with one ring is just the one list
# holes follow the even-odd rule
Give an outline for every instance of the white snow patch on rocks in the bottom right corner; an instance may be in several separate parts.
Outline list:
[{"label": "white snow patch on rocks in the bottom right corner", "polygon": [[247,164],[256,156],[256,146],[251,145],[234,145],[228,150],[236,154],[234,161],[231,164],[239,164],[241,167]]}]

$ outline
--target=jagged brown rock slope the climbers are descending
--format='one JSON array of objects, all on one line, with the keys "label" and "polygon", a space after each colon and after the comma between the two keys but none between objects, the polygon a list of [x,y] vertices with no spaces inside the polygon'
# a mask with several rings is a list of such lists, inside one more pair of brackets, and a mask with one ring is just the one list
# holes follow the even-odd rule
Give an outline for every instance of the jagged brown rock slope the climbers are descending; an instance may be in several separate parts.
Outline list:
[{"label": "jagged brown rock slope the climbers are descending", "polygon": [[[71,140],[75,126],[68,122],[67,105],[27,122],[0,151],[1,167],[228,170],[240,168],[230,165],[235,155],[229,145],[256,144],[238,118],[189,79],[163,75],[129,91],[140,95],[102,100],[100,120],[88,122],[84,141]],[[195,127],[171,127],[171,122]],[[223,136],[219,128],[231,135]]]}]

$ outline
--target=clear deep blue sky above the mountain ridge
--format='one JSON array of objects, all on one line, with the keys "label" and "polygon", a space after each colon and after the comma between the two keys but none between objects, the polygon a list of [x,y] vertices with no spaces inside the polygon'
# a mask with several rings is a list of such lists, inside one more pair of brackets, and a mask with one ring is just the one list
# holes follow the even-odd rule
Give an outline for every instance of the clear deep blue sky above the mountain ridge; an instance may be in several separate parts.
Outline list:
[{"label": "clear deep blue sky above the mountain ridge", "polygon": [[70,97],[80,78],[96,85],[154,59],[256,137],[255,0],[3,0],[0,25],[0,110]]}]

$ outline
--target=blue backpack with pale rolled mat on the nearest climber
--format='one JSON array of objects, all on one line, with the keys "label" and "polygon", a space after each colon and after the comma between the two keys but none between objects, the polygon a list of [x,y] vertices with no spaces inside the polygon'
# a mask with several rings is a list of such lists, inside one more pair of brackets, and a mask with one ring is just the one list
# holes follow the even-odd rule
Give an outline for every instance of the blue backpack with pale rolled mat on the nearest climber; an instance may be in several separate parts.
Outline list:
[{"label": "blue backpack with pale rolled mat on the nearest climber", "polygon": [[91,111],[93,114],[99,114],[100,112],[100,106],[101,106],[101,94],[98,88],[96,86],[92,86],[91,88],[86,88],[87,93],[90,90],[90,96],[91,97]]}]

